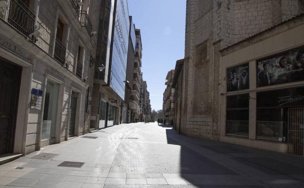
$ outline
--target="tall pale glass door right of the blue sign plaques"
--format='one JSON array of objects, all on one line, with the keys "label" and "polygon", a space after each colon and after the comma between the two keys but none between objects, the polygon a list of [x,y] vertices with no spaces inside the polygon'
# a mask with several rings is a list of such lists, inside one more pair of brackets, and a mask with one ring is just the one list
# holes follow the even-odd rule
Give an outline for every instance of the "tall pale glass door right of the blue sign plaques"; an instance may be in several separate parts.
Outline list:
[{"label": "tall pale glass door right of the blue sign plaques", "polygon": [[59,84],[47,80],[41,140],[55,137],[58,93]]}]

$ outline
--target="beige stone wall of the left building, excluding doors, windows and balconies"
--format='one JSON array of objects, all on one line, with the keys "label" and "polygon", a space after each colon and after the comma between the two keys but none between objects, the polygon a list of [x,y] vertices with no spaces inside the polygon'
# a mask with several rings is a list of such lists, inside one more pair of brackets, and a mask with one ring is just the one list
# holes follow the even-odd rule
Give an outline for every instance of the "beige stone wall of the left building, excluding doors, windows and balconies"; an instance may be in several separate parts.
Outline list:
[{"label": "beige stone wall of the left building, excluding doors, windows and balconies", "polygon": [[[98,6],[100,7],[100,2],[95,4],[95,12],[96,10],[97,12],[99,11]],[[69,68],[62,67],[53,59],[58,17],[66,24],[66,28],[64,29],[64,41],[66,42],[67,47],[66,59],[67,62],[71,62]],[[90,125],[90,116],[86,113],[87,87],[89,84],[75,76],[75,65],[78,45],[81,43],[84,48],[82,78],[87,76],[90,78],[89,71],[92,72],[92,70],[89,70],[89,60],[90,55],[95,54],[92,49],[96,42],[95,37],[90,39],[89,35],[86,32],[83,32],[85,31],[85,28],[81,27],[78,20],[75,18],[75,9],[72,7],[70,0],[54,2],[40,0],[37,28],[41,35],[36,43],[27,41],[19,31],[11,28],[7,22],[1,21],[0,23],[1,30],[6,31],[1,32],[0,34],[0,49],[3,49],[5,54],[13,54],[5,58],[11,58],[10,61],[13,63],[23,66],[20,86],[22,89],[22,92],[20,91],[20,96],[22,94],[22,97],[19,97],[22,101],[19,101],[19,104],[23,104],[22,106],[24,106],[24,108],[26,107],[24,104],[29,104],[27,100],[30,99],[31,88],[41,89],[44,94],[47,79],[53,79],[53,81],[55,80],[55,82],[60,84],[57,105],[56,143],[67,139],[71,100],[70,95],[72,90],[79,93],[75,135],[82,135],[84,125],[86,126],[85,129],[88,129]],[[99,21],[98,18],[99,17],[94,17],[92,22],[96,24],[96,22]],[[94,28],[98,28],[98,25],[94,25]],[[1,57],[4,56],[1,55]],[[28,65],[23,65],[15,59],[26,61],[28,62]],[[89,78],[86,78],[86,82],[88,82]],[[28,83],[28,85],[23,85],[22,83]],[[43,100],[44,98],[42,97],[42,102]],[[19,111],[22,113],[26,112],[26,117],[23,117],[24,115],[19,114],[18,112],[18,122],[16,125],[18,127],[18,130],[16,129],[16,135],[18,136],[16,136],[15,139],[14,152],[27,154],[40,149],[40,147],[48,144],[48,141],[43,143],[40,142],[43,104],[40,110],[32,109],[29,106],[27,109],[22,108],[22,110]],[[22,120],[20,119],[21,116],[23,117]]]}]

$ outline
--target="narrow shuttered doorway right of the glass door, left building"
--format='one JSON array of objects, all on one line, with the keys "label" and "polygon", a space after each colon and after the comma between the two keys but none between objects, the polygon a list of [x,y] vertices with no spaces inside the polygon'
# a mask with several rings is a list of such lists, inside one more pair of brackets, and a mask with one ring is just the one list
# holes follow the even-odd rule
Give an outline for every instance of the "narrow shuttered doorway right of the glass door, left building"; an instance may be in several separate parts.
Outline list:
[{"label": "narrow shuttered doorway right of the glass door, left building", "polygon": [[77,109],[78,93],[72,91],[71,104],[70,104],[70,121],[69,121],[69,132],[68,136],[75,136],[75,122],[76,122],[76,109]]}]

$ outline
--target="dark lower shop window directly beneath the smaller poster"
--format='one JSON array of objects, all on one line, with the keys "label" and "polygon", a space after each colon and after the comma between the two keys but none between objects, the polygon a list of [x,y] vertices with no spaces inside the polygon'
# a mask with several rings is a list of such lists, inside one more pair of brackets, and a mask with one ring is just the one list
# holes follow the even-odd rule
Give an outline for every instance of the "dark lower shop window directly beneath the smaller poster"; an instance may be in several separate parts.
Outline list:
[{"label": "dark lower shop window directly beneath the smaller poster", "polygon": [[249,94],[227,97],[226,135],[248,138]]}]

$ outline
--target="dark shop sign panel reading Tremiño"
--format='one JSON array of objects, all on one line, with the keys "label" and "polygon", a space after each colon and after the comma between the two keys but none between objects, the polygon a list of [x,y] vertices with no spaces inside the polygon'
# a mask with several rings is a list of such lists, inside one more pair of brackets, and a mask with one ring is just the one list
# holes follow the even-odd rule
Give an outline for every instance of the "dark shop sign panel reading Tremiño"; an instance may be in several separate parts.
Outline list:
[{"label": "dark shop sign panel reading Tremi\u00f1o", "polygon": [[304,106],[304,87],[259,92],[257,106]]}]

